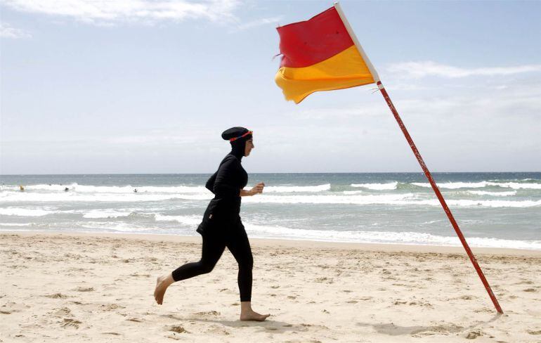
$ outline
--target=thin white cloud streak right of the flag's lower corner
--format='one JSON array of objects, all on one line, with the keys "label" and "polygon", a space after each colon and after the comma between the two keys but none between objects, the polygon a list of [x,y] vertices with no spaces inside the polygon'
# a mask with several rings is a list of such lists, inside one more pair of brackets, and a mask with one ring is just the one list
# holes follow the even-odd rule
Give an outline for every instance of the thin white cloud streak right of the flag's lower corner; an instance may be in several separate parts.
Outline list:
[{"label": "thin white cloud streak right of the flag's lower corner", "polygon": [[447,77],[451,79],[470,76],[503,76],[525,72],[541,72],[541,65],[518,65],[514,67],[463,68],[443,65],[433,61],[395,63],[386,67],[386,72],[403,77]]}]

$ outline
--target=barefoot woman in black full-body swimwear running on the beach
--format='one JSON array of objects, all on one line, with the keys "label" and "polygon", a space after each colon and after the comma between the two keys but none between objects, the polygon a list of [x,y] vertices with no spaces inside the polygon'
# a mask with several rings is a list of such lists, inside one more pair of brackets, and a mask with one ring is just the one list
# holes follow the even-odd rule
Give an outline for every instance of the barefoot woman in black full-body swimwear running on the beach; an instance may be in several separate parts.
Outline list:
[{"label": "barefoot woman in black full-body swimwear running on the beach", "polygon": [[204,212],[203,221],[197,232],[203,237],[202,257],[198,262],[184,264],[172,273],[157,279],[154,297],[162,304],[165,290],[176,281],[210,273],[228,247],[239,265],[238,284],[240,291],[240,320],[264,321],[268,314],[252,310],[252,250],[245,227],[240,221],[240,197],[263,192],[265,183],[260,182],[251,190],[244,190],[248,174],[240,161],[250,155],[254,148],[252,131],[244,127],[232,127],[223,131],[223,139],[230,141],[231,152],[222,160],[218,171],[207,181],[206,187],[214,193]]}]

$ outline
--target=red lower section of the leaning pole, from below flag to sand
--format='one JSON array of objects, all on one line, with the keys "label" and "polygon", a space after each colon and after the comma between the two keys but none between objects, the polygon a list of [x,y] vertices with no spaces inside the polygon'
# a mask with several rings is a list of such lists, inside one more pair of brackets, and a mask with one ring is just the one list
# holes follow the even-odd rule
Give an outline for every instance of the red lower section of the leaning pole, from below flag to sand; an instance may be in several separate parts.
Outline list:
[{"label": "red lower section of the leaning pole, from below flag to sand", "polygon": [[377,82],[377,86],[379,88],[379,91],[382,92],[383,97],[385,98],[385,101],[387,102],[387,105],[389,105],[389,108],[391,109],[391,112],[393,112],[394,118],[396,119],[396,122],[398,122],[398,126],[400,127],[400,130],[402,130],[406,140],[408,141],[408,144],[410,144],[410,148],[412,148],[413,155],[417,157],[417,161],[421,165],[421,168],[424,171],[424,175],[426,176],[426,179],[429,179],[430,186],[432,186],[432,189],[434,190],[434,193],[436,193],[436,197],[438,197],[438,200],[440,200],[441,207],[443,207],[443,211],[445,211],[445,214],[447,214],[447,217],[449,221],[451,222],[452,228],[455,229],[455,232],[458,235],[458,238],[460,242],[462,242],[462,246],[466,250],[469,259],[472,264],[474,264],[474,268],[477,271],[477,274],[479,278],[481,278],[481,282],[485,286],[485,290],[488,292],[488,295],[490,296],[490,299],[492,299],[492,302],[496,308],[496,311],[498,313],[504,313],[502,311],[502,308],[500,307],[500,304],[498,303],[492,289],[490,288],[490,285],[488,284],[488,281],[485,278],[485,275],[483,274],[483,271],[481,271],[481,267],[477,263],[477,260],[474,256],[474,253],[471,252],[471,249],[469,248],[468,243],[466,242],[466,238],[464,238],[464,235],[462,235],[462,231],[460,231],[460,228],[458,227],[457,221],[455,221],[455,217],[452,216],[451,210],[447,206],[447,203],[445,202],[445,199],[443,199],[443,195],[441,195],[440,189],[438,186],[436,186],[436,182],[434,179],[432,179],[432,175],[430,174],[429,169],[426,167],[426,164],[424,164],[423,157],[419,153],[419,150],[417,150],[417,147],[415,146],[415,143],[413,143],[413,140],[408,133],[408,129],[405,128],[404,123],[402,122],[402,119],[400,119],[400,115],[398,115],[398,112],[396,111],[396,108],[393,105],[393,102],[391,101],[391,98],[389,98],[389,94],[385,90],[383,84],[381,81]]}]

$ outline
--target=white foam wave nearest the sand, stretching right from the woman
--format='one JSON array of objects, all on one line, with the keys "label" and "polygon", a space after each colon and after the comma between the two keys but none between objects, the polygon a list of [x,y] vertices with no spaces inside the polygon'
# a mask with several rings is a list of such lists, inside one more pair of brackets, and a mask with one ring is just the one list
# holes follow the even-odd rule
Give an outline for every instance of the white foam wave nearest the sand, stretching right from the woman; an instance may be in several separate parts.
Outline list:
[{"label": "white foam wave nearest the sand, stretching right from the woman", "polygon": [[[246,224],[245,228],[253,237],[295,240],[318,240],[330,242],[360,242],[409,245],[460,246],[456,236],[440,236],[430,233],[387,232],[387,231],[326,231],[285,228]],[[502,240],[498,238],[467,238],[472,247],[504,247],[513,249],[541,250],[541,240]]]}]

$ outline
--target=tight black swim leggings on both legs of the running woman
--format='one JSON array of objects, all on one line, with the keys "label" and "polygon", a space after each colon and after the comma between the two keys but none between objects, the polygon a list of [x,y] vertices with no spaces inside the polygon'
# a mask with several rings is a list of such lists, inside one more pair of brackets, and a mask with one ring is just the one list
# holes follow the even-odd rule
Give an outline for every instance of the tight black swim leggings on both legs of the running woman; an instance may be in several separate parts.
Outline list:
[{"label": "tight black swim leggings on both legs of the running woman", "polygon": [[223,253],[228,247],[239,265],[237,277],[240,291],[240,301],[249,302],[252,299],[252,268],[254,259],[252,249],[245,228],[237,226],[230,228],[226,235],[203,235],[203,251],[201,260],[184,264],[173,271],[173,280],[180,281],[193,278],[205,273],[210,273]]}]

